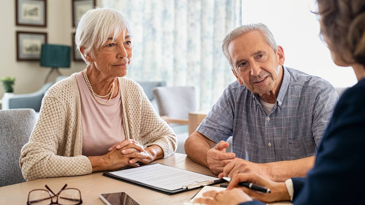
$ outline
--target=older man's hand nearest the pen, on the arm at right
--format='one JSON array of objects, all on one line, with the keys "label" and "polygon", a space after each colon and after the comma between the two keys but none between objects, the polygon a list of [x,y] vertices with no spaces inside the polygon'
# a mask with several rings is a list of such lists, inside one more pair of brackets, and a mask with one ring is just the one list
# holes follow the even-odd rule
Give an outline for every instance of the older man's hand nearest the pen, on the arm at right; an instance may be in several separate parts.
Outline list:
[{"label": "older man's hand nearest the pen, on the arm at right", "polygon": [[256,173],[262,177],[271,179],[270,169],[266,164],[253,163],[239,158],[234,159],[232,162],[226,165],[223,169],[223,172],[220,173],[218,177],[232,177],[237,173]]}]

